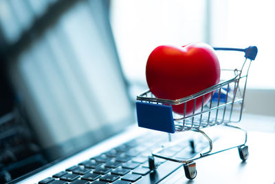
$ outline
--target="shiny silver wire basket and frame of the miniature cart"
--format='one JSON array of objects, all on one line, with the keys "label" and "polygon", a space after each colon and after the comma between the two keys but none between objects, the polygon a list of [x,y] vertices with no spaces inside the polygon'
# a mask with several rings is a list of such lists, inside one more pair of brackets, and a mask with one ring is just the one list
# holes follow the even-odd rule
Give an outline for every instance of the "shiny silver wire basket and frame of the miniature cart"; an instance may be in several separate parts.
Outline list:
[{"label": "shiny silver wire basket and frame of the miniature cart", "polygon": [[[241,51],[241,52],[245,52],[245,56],[247,56],[246,50],[251,51],[251,47],[246,49],[215,48],[215,50]],[[179,105],[184,103],[183,115],[179,116],[179,114],[177,114],[177,117],[173,115],[173,120],[175,123],[175,132],[184,132],[188,130],[199,132],[209,142],[209,150],[207,150],[206,152],[200,153],[197,156],[189,159],[183,160],[183,159],[175,159],[173,157],[164,156],[160,154],[160,152],[164,148],[155,150],[154,152],[152,152],[152,155],[159,157],[161,159],[169,160],[169,161],[175,161],[179,163],[190,163],[197,159],[201,159],[202,157],[205,157],[205,156],[210,156],[212,154],[217,154],[225,150],[230,150],[234,147],[241,147],[245,145],[248,139],[247,132],[240,127],[230,125],[228,123],[241,121],[241,115],[243,112],[243,101],[245,98],[245,89],[246,89],[246,83],[247,83],[247,77],[248,77],[248,70],[250,69],[250,64],[252,60],[254,60],[254,57],[256,57],[255,53],[254,54],[249,53],[248,59],[245,58],[245,61],[241,67],[241,70],[237,70],[237,69],[221,70],[221,72],[232,72],[234,76],[231,79],[221,81],[217,85],[213,85],[210,88],[207,88],[206,90],[202,90],[201,92],[197,92],[196,94],[192,94],[182,99],[177,99],[177,100],[157,99],[155,98],[155,96],[153,96],[153,94],[151,94],[150,90],[146,90],[142,94],[138,95],[137,101],[143,101],[146,103],[160,103],[162,105]],[[248,60],[250,61],[249,63],[248,63]],[[240,81],[244,83],[240,83]],[[218,97],[215,97],[217,101],[215,101],[214,99],[215,92],[217,92],[216,94],[218,95]],[[210,101],[208,101],[208,103],[204,105],[203,103],[206,100],[205,99],[206,94],[210,94]],[[224,95],[225,95],[225,98],[224,98]],[[148,97],[148,96],[151,96],[151,97]],[[196,112],[195,108],[196,108],[197,98],[202,98],[202,105],[199,108],[199,110]],[[190,101],[194,103],[192,108],[192,113],[186,114],[186,106],[188,102],[190,103]],[[237,119],[236,121],[232,121],[233,112],[239,112],[239,119]],[[226,149],[219,150],[217,152],[212,152],[212,147],[213,147],[212,139],[210,139],[210,137],[205,132],[203,132],[201,128],[211,127],[214,125],[225,125],[227,127],[232,127],[234,129],[242,130],[245,133],[244,143],[241,145],[228,147]],[[170,134],[168,137],[170,141],[171,139]]]}]

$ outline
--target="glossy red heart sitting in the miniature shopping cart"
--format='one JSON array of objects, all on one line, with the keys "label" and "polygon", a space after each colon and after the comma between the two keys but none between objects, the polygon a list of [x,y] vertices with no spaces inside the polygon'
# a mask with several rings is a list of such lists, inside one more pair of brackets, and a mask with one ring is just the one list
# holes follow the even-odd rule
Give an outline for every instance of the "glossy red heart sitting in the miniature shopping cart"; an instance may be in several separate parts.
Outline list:
[{"label": "glossy red heart sitting in the miniature shopping cart", "polygon": [[[192,43],[183,47],[162,45],[151,52],[146,63],[148,88],[159,99],[181,99],[219,83],[219,60],[210,45]],[[206,94],[203,104],[210,99]],[[195,110],[201,108],[202,96]],[[193,112],[194,100],[186,103],[186,115]],[[184,114],[184,104],[173,105],[173,111]]]}]

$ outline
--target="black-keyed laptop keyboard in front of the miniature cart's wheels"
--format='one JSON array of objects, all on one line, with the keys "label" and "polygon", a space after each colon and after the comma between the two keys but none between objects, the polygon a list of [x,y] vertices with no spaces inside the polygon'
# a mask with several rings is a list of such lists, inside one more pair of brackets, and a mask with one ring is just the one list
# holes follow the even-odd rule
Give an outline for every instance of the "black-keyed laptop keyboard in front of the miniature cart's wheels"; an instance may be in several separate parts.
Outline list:
[{"label": "black-keyed laptop keyboard in front of the miniature cart's wheels", "polygon": [[[177,156],[179,154],[181,158],[195,156],[198,152],[194,152],[194,149],[189,146],[189,139],[190,137],[186,137],[180,145],[163,150],[162,155]],[[182,165],[182,163],[155,158],[157,169],[149,169],[148,156],[167,141],[166,134],[148,134],[133,139],[45,178],[39,181],[39,184],[158,183]],[[208,147],[207,143],[199,143],[200,150],[206,147]]]}]

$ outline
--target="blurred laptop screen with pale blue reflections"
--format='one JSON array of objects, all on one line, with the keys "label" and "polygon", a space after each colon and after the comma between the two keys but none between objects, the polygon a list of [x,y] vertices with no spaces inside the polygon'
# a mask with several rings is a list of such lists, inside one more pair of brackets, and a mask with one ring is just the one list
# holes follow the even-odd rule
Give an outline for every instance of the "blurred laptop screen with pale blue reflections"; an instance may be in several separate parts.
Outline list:
[{"label": "blurred laptop screen with pale blue reflections", "polygon": [[17,164],[17,170],[8,170],[12,178],[133,123],[107,8],[105,1],[72,3],[15,49],[8,74],[21,117],[31,130],[32,154],[19,160],[29,159]]}]

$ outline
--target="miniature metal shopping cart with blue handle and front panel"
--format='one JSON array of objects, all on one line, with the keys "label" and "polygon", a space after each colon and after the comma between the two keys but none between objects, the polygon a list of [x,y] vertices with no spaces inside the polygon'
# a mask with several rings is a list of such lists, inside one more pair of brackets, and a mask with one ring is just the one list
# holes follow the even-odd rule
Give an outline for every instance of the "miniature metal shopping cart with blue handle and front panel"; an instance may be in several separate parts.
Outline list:
[{"label": "miniature metal shopping cart with blue handle and front panel", "polygon": [[[148,164],[151,170],[154,170],[156,167],[154,158],[157,157],[168,161],[183,163],[186,177],[188,179],[193,179],[197,176],[195,160],[201,159],[205,156],[210,156],[237,147],[241,159],[243,161],[248,159],[248,146],[245,145],[247,141],[247,132],[241,129],[241,127],[232,125],[232,123],[241,121],[248,70],[250,69],[251,62],[256,58],[258,50],[256,46],[250,46],[245,49],[214,48],[214,50],[222,50],[224,52],[232,52],[235,54],[236,52],[244,52],[245,61],[243,64],[241,63],[241,69],[222,69],[220,83],[182,99],[157,99],[150,90],[137,96],[137,122],[140,127],[168,132],[169,134],[191,130],[201,133],[203,137],[208,140],[207,142],[209,142],[209,150],[191,156],[191,158],[188,159],[177,159],[175,156],[163,155],[162,152],[166,147],[155,150],[152,152],[152,156],[149,156],[148,159]],[[196,100],[202,98],[203,101],[205,96],[209,94],[211,97],[208,103],[204,105],[202,103],[199,110],[196,111]],[[190,103],[190,101],[194,104],[193,111],[192,114],[186,114],[186,104],[188,102]],[[184,114],[182,115],[176,114],[172,109],[172,105],[179,104],[184,108]],[[213,141],[201,129],[216,125],[224,125],[234,130],[243,131],[243,134],[245,135],[244,143],[217,152],[212,152]],[[168,147],[171,145],[173,144],[171,143]],[[192,147],[194,147],[194,145],[192,145]]]}]

